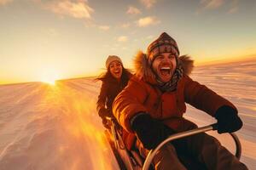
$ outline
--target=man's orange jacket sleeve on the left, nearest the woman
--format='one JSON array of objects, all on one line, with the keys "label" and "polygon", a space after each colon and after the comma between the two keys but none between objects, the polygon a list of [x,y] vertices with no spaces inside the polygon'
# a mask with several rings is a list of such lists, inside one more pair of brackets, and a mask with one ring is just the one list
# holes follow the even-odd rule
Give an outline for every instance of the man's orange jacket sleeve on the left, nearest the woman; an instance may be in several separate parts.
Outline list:
[{"label": "man's orange jacket sleeve on the left, nearest the woman", "polygon": [[113,116],[126,131],[131,132],[131,118],[138,112],[147,111],[143,102],[147,98],[147,89],[142,83],[130,80],[126,88],[113,101]]}]

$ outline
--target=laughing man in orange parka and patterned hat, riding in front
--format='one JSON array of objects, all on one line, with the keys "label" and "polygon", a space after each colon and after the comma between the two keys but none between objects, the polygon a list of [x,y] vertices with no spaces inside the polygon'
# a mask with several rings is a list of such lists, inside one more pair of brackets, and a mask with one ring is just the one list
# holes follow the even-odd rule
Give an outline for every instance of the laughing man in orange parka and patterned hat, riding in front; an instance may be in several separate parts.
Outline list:
[{"label": "laughing man in orange parka and patterned hat, riding in front", "polygon": [[[242,126],[234,105],[189,76],[193,61],[179,56],[177,42],[166,32],[151,42],[147,54],[135,59],[136,74],[114,99],[113,115],[125,128],[126,147],[136,146],[143,157],[169,135],[197,127],[183,118],[185,103],[218,121],[218,133]],[[137,140],[136,140],[137,139]],[[185,153],[207,169],[247,169],[217,139],[201,133],[166,144],[154,157],[155,169],[186,169],[178,159]]]}]

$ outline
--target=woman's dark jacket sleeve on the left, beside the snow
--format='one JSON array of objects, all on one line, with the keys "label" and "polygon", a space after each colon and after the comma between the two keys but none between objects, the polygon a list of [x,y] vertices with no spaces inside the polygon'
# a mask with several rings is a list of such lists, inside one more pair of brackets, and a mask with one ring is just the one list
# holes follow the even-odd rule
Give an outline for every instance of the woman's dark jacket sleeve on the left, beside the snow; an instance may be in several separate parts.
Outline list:
[{"label": "woman's dark jacket sleeve on the left, beside the snow", "polygon": [[98,96],[98,100],[96,103],[96,108],[98,111],[98,115],[101,117],[107,116],[108,115],[108,110],[106,109],[106,99],[107,99],[107,84],[105,82],[102,82],[102,88],[101,92]]}]

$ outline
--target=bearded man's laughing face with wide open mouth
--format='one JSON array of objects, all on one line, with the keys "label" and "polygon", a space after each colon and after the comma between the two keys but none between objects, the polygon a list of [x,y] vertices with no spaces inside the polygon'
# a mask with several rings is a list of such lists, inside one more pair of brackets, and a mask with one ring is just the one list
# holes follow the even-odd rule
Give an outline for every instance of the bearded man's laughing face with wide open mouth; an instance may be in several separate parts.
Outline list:
[{"label": "bearded man's laughing face with wide open mouth", "polygon": [[159,54],[152,64],[154,72],[162,82],[169,82],[171,80],[176,65],[175,55],[171,53]]}]

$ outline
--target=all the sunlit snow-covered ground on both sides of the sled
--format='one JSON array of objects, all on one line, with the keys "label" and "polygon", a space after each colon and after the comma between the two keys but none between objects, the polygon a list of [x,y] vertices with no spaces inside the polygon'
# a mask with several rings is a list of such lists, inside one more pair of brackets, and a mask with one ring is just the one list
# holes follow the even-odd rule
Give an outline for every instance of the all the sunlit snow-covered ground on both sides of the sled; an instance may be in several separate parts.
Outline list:
[{"label": "all the sunlit snow-covered ground on both sides of the sled", "polygon": [[[241,161],[249,169],[256,169],[255,68],[256,60],[207,65],[191,76],[238,107]],[[100,86],[91,78],[1,85],[0,169],[119,169],[96,114]],[[199,126],[215,122],[189,105],[185,116]],[[212,134],[234,152],[228,134]]]}]

